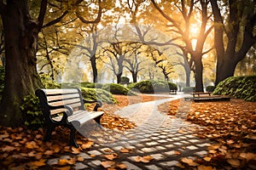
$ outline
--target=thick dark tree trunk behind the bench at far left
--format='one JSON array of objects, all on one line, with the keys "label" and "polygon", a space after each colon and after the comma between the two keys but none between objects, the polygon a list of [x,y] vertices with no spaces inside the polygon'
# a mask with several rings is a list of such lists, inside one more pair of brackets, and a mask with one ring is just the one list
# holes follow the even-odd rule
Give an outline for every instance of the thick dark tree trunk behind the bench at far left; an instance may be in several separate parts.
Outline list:
[{"label": "thick dark tree trunk behind the bench at far left", "polygon": [[5,84],[0,110],[0,124],[20,126],[26,114],[20,111],[24,97],[42,87],[36,69],[38,29],[26,8],[26,1],[8,3],[2,15],[5,31]]}]

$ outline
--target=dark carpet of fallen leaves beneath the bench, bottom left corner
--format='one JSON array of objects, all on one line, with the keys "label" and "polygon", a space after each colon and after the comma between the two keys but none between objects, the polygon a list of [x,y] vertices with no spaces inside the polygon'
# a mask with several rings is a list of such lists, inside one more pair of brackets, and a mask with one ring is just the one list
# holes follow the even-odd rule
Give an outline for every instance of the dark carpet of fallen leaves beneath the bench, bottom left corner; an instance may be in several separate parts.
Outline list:
[{"label": "dark carpet of fallen leaves beneath the bench, bottom left corner", "polygon": [[[46,160],[51,156],[60,157],[65,152],[76,155],[89,149],[93,144],[93,142],[77,135],[80,148],[67,146],[69,131],[60,127],[57,127],[53,132],[50,142],[43,142],[44,131],[42,128],[36,131],[25,127],[0,127],[0,129],[0,167],[3,169],[37,169],[47,166]],[[60,159],[55,167],[70,167],[77,161],[82,161],[81,157],[73,156],[70,159]]]}]

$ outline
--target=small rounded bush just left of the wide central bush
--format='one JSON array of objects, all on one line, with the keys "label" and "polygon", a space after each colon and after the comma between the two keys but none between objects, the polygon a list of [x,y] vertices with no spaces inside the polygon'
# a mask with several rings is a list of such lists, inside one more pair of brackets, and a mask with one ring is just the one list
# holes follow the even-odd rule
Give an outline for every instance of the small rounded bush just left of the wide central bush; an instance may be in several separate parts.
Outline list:
[{"label": "small rounded bush just left of the wide central bush", "polygon": [[109,91],[111,94],[134,95],[129,92],[130,90],[128,88],[116,83],[104,84],[102,89]]}]

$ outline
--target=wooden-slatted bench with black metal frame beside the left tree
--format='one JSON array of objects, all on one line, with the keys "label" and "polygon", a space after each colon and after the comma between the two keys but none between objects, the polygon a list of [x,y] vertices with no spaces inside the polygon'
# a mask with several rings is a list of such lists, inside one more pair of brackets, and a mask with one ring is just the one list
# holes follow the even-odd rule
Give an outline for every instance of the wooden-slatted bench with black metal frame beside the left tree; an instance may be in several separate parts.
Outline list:
[{"label": "wooden-slatted bench with black metal frame beside the left tree", "polygon": [[[102,106],[102,101],[86,101],[82,97],[79,88],[67,89],[38,89],[36,95],[45,118],[46,133],[44,141],[51,138],[51,133],[57,126],[70,129],[70,144],[79,147],[75,139],[75,133],[85,122],[95,120],[100,125],[103,111],[97,111]],[[86,111],[84,103],[94,103],[94,111]]]}]

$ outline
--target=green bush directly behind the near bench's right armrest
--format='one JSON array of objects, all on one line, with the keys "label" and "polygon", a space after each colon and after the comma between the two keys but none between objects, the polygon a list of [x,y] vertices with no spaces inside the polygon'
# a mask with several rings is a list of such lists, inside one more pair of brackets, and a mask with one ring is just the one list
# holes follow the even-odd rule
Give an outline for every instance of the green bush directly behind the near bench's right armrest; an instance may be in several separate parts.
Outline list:
[{"label": "green bush directly behind the near bench's right armrest", "polygon": [[100,88],[81,88],[82,96],[86,100],[100,99],[106,103],[117,103],[117,100],[113,98],[113,95],[108,91]]}]

